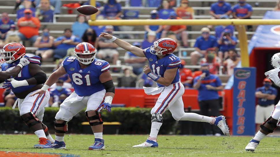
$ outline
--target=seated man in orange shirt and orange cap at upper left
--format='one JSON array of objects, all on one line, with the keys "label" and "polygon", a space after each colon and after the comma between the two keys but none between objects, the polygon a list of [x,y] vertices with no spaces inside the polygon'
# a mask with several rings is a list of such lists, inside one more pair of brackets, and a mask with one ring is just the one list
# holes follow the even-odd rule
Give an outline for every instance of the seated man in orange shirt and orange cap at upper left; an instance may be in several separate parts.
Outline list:
[{"label": "seated man in orange shirt and orange cap at upper left", "polygon": [[31,43],[35,43],[39,37],[40,20],[32,17],[32,11],[30,9],[24,10],[24,17],[18,19],[18,36],[21,40],[30,40]]}]

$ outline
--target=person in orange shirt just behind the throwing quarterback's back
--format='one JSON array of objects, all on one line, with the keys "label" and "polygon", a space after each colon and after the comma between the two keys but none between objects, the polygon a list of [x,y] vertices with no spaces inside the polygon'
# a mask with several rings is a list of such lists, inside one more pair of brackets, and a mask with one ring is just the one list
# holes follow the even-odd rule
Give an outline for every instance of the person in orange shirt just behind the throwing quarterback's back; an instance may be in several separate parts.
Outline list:
[{"label": "person in orange shirt just behind the throwing quarterback's back", "polygon": [[186,62],[181,60],[181,67],[179,68],[180,81],[185,88],[193,87],[193,74],[192,71],[188,68],[184,68]]}]

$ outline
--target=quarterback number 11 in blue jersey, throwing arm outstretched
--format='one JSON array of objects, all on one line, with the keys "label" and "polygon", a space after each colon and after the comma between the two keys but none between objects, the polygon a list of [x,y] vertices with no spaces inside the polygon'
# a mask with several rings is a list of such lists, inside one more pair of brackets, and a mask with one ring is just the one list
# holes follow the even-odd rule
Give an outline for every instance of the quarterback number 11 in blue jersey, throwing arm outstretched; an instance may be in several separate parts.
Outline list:
[{"label": "quarterback number 11 in blue jersey, throwing arm outstretched", "polygon": [[[180,82],[179,70],[181,65],[180,59],[172,54],[177,48],[177,43],[170,38],[162,38],[154,42],[154,45],[146,49],[132,46],[108,33],[101,33],[99,37],[111,39],[118,46],[132,52],[139,57],[148,58],[150,66],[145,66],[144,73],[154,80],[158,87],[143,87],[148,95],[159,94],[155,106],[151,110],[152,127],[148,139],[139,145],[133,147],[158,147],[157,135],[163,123],[162,114],[170,110],[175,120],[191,120],[197,122],[208,122],[217,125],[225,135],[229,135],[229,129],[225,122],[225,116],[216,118],[202,116],[195,113],[185,113],[182,95],[184,86]],[[152,69],[152,70],[151,70]]]}]

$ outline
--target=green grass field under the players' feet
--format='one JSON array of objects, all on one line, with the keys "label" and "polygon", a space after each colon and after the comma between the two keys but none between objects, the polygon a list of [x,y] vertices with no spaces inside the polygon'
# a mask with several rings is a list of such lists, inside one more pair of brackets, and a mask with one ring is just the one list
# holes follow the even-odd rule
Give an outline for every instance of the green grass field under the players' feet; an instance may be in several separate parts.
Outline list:
[{"label": "green grass field under the players' feet", "polygon": [[[78,156],[280,156],[279,137],[266,137],[255,153],[244,151],[251,137],[160,135],[158,148],[132,148],[148,135],[104,135],[105,150],[87,150],[93,135],[66,135],[67,150],[33,148],[35,135],[0,135],[0,151],[63,153]],[[54,137],[54,135],[53,135]],[[3,155],[3,154],[2,154]],[[0,154],[1,156],[1,154]]]}]

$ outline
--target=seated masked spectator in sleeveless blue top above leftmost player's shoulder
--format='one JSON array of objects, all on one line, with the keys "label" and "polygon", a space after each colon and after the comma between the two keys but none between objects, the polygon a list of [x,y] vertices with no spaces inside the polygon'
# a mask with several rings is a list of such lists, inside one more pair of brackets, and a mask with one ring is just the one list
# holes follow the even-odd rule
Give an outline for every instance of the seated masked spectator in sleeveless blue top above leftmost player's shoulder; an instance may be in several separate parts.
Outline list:
[{"label": "seated masked spectator in sleeveless blue top above leftmost player's shoulder", "polygon": [[42,62],[53,56],[54,38],[50,36],[49,31],[48,28],[43,29],[42,36],[38,37],[34,43],[34,47],[38,47],[35,54],[41,57]]}]

